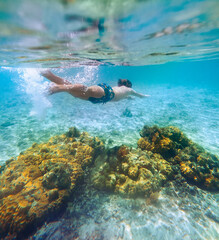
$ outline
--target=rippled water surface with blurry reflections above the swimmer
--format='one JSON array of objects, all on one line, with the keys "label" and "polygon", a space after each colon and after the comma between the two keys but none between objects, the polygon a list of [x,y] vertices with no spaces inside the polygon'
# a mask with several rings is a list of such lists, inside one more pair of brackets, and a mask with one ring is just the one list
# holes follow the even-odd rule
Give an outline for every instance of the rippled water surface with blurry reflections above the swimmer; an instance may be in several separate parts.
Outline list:
[{"label": "rippled water surface with blurry reflections above the swimmer", "polygon": [[148,65],[218,58],[217,0],[1,1],[4,66]]}]

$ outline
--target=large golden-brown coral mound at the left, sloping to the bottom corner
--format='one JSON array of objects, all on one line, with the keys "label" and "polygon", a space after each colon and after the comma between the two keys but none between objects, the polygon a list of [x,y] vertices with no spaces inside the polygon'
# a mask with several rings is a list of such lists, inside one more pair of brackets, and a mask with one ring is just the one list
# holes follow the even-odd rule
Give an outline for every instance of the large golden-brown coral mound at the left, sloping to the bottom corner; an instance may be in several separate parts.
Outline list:
[{"label": "large golden-brown coral mound at the left, sloping to the bottom corner", "polygon": [[97,138],[71,128],[8,161],[0,175],[0,236],[32,229],[61,209],[102,148]]}]

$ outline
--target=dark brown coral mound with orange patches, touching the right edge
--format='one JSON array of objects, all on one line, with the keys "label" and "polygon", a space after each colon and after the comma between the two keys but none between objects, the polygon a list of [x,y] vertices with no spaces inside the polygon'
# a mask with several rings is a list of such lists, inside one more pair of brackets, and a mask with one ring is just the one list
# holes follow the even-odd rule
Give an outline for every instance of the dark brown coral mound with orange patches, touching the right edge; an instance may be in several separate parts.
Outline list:
[{"label": "dark brown coral mound with orange patches, touching the right edge", "polygon": [[178,128],[145,126],[138,147],[159,153],[173,165],[179,165],[181,174],[200,188],[219,191],[219,159],[189,140]]}]

